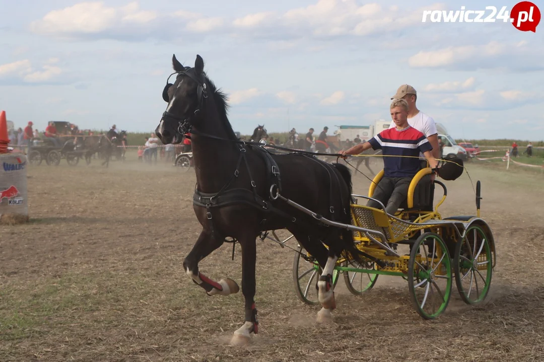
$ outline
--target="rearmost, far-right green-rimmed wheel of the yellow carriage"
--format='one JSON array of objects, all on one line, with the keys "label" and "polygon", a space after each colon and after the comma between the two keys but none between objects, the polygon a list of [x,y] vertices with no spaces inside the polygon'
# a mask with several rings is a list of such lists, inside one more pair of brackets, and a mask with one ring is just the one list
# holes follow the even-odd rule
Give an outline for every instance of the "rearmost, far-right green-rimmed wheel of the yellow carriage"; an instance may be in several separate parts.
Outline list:
[{"label": "rearmost, far-right green-rimmed wheel of the yellow carriage", "polygon": [[455,246],[453,260],[455,284],[467,304],[485,300],[493,271],[489,237],[480,226],[469,226],[465,237]]}]

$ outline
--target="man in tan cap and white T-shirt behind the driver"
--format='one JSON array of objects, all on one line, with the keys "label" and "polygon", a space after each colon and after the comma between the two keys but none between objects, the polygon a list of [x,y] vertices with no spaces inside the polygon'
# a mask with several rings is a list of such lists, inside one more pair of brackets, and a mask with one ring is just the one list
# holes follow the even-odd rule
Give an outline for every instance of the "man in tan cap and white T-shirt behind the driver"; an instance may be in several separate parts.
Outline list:
[{"label": "man in tan cap and white T-shirt behind the driver", "polygon": [[[408,124],[427,137],[432,146],[432,156],[438,160],[440,158],[440,147],[438,146],[436,123],[434,119],[417,109],[417,92],[415,88],[409,84],[403,84],[398,88],[397,93],[391,97],[391,99],[404,99],[407,101]],[[389,128],[395,128],[395,123],[393,121]],[[419,156],[423,157],[421,154]]]}]

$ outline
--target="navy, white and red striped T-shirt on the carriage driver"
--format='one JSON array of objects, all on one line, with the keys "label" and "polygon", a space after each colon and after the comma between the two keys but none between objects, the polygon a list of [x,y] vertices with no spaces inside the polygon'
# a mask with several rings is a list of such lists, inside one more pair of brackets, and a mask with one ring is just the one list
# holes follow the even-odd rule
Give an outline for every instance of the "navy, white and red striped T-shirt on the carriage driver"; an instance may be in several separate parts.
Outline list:
[{"label": "navy, white and red striped T-shirt on the carriage driver", "polygon": [[[432,146],[422,132],[412,126],[398,130],[390,128],[381,131],[368,140],[374,150],[381,149],[384,154],[384,176],[413,177],[421,169],[419,153],[432,150]],[[411,156],[411,157],[391,157]]]}]

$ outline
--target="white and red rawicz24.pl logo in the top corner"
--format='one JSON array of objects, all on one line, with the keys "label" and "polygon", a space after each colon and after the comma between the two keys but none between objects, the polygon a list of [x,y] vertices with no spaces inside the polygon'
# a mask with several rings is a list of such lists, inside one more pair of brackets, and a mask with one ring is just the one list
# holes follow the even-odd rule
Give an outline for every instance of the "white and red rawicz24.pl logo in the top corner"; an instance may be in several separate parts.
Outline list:
[{"label": "white and red rawicz24.pl logo in the top corner", "polygon": [[507,7],[497,10],[494,6],[485,7],[485,10],[423,10],[422,22],[432,23],[494,23],[502,20],[510,22],[521,31],[533,31],[540,23],[540,9],[530,1],[522,1],[514,5],[512,10]]}]

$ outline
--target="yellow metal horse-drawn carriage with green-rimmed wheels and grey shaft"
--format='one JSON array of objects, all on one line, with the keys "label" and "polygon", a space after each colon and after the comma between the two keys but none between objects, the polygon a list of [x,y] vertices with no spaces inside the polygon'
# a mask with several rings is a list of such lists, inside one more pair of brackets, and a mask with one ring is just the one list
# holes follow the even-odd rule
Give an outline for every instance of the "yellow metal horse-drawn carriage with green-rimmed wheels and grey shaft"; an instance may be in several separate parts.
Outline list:
[{"label": "yellow metal horse-drawn carriage with green-rimmed wheels and grey shaft", "polygon": [[[369,256],[362,265],[340,258],[333,271],[333,285],[342,275],[347,289],[362,295],[374,287],[380,275],[401,277],[408,282],[412,304],[424,319],[435,319],[444,312],[454,279],[465,303],[483,302],[489,293],[496,252],[491,228],[480,218],[480,181],[476,189],[476,215],[442,218],[438,207],[446,200],[446,185],[434,181],[434,185],[443,189],[443,195],[433,207],[431,169],[424,168],[413,177],[404,205],[390,215],[382,204],[380,209],[360,205],[358,201],[366,204],[372,198],[383,174],[382,170],[374,177],[368,196],[352,195],[351,225],[327,220],[284,198],[324,224],[351,230],[357,249]],[[290,238],[280,243],[285,244]],[[316,282],[322,270],[300,244],[297,251],[293,262],[296,294],[307,304],[318,304]]]}]

